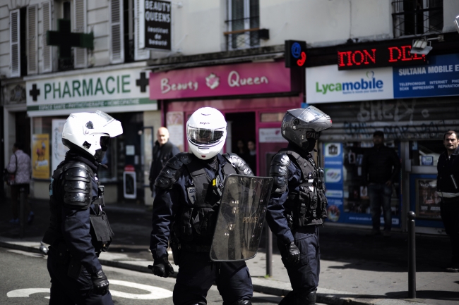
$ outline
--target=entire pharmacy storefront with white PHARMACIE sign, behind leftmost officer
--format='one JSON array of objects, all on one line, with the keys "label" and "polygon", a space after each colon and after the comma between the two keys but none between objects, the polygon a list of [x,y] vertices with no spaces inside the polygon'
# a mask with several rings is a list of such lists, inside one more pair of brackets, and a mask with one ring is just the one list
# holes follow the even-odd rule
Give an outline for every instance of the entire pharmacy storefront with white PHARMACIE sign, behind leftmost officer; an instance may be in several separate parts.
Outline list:
[{"label": "entire pharmacy storefront with white PHARMACIE sign, behind leftmost officer", "polygon": [[[109,190],[108,202],[124,199],[125,168],[136,173],[136,183],[129,186],[136,196],[131,198],[143,199],[144,172],[150,164],[153,128],[160,126],[160,114],[157,102],[148,98],[148,73],[142,66],[26,77],[34,197],[48,197],[52,171],[64,160],[67,148],[61,143],[61,132],[68,115],[100,110],[120,120],[124,129],[123,135],[114,138],[102,161],[107,169],[101,171],[100,178]],[[132,189],[134,185],[136,189]]]}]

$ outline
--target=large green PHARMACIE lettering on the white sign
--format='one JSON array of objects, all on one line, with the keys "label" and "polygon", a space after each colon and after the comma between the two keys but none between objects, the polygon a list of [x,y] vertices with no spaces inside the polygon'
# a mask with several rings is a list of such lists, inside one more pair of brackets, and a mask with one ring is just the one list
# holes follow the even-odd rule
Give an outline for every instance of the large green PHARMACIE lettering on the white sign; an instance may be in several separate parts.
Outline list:
[{"label": "large green PHARMACIE lettering on the white sign", "polygon": [[95,95],[130,93],[131,75],[109,76],[66,80],[65,82],[45,82],[44,99],[65,99],[67,97],[91,97]]}]

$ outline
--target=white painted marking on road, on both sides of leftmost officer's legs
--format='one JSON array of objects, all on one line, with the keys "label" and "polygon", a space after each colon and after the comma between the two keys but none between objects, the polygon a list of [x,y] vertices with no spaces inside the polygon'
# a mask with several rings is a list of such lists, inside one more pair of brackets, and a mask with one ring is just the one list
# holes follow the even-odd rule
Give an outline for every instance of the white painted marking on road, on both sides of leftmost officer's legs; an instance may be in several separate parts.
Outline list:
[{"label": "white painted marking on road, on both sides of leftmost officer's legs", "polygon": [[[143,285],[138,284],[136,282],[126,282],[124,280],[109,280],[110,284],[112,285],[119,285],[125,287],[136,288],[140,290],[146,290],[150,293],[148,294],[133,294],[129,292],[120,292],[117,290],[110,290],[110,293],[113,297],[122,297],[124,299],[166,299],[168,297],[172,297],[172,291],[150,286],[150,285]],[[7,297],[30,297],[30,294],[35,293],[49,293],[49,288],[26,288],[26,289],[18,289],[12,290],[6,294]],[[45,297],[49,299],[49,297]]]}]

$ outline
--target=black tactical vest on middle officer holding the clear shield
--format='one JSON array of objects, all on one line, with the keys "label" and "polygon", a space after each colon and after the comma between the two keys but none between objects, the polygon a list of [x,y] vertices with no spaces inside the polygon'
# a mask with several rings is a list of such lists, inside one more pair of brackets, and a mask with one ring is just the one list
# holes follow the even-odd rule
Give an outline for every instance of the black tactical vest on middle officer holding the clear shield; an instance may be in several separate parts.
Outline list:
[{"label": "black tactical vest on middle officer holding the clear shield", "polygon": [[[212,237],[224,181],[220,180],[218,171],[211,180],[202,164],[196,160],[185,166],[193,180],[193,185],[186,186],[187,196],[193,202],[193,206],[184,208],[179,214],[174,223],[174,233],[179,239],[189,242],[193,239]],[[222,167],[223,180],[230,174],[237,174],[237,170],[227,161]]]}]

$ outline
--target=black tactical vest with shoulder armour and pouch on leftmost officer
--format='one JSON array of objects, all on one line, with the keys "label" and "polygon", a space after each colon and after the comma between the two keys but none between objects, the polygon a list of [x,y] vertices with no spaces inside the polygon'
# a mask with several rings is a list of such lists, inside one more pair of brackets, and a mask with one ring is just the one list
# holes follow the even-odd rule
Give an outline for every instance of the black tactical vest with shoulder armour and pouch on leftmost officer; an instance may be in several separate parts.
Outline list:
[{"label": "black tactical vest with shoulder armour and pouch on leftmost officer", "polygon": [[107,251],[114,233],[110,228],[107,215],[102,211],[102,207],[105,206],[104,186],[97,180],[97,197],[93,199],[93,180],[96,180],[93,170],[83,162],[70,161],[54,170],[49,184],[51,218],[43,242],[53,245],[64,240],[61,232],[62,204],[81,209],[89,208],[94,204],[95,214],[90,213],[91,242],[96,253]]}]

